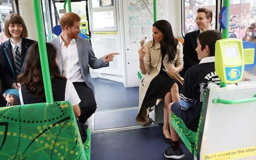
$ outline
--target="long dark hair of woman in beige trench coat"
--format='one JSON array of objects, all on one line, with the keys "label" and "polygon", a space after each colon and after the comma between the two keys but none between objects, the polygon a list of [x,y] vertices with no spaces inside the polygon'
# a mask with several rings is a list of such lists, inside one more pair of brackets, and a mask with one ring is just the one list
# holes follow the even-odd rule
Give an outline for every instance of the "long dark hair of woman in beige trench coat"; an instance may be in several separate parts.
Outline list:
[{"label": "long dark hair of woman in beige trench coat", "polygon": [[[178,40],[174,37],[172,33],[172,26],[166,20],[156,21],[153,24],[153,26],[162,32],[163,40],[160,42],[161,48],[163,48],[163,50],[166,51],[166,54],[169,57],[169,62],[171,62],[175,58],[175,55],[177,53],[177,45],[178,45]],[[153,45],[154,44],[155,44],[155,41],[153,38]]]}]

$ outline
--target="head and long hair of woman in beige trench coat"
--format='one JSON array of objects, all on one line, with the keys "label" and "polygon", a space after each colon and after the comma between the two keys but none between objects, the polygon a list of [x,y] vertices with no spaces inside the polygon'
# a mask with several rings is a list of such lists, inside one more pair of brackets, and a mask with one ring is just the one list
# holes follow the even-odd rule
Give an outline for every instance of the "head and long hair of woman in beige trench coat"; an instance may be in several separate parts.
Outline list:
[{"label": "head and long hair of woman in beige trench coat", "polygon": [[161,47],[169,55],[169,60],[173,60],[176,54],[177,39],[175,39],[171,24],[166,20],[159,20],[153,24],[153,42],[159,42]]}]

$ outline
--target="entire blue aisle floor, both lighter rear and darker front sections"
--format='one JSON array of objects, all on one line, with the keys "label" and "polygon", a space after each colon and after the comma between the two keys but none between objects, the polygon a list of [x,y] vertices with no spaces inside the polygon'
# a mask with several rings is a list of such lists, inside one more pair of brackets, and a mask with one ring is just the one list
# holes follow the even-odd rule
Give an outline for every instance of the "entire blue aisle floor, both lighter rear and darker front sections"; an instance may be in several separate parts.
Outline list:
[{"label": "entire blue aisle floor, both lighter rear and darker front sections", "polygon": [[[91,134],[92,160],[161,160],[171,144],[162,133],[163,124],[138,125],[139,88],[124,88],[122,83],[94,78],[97,110]],[[185,158],[193,159],[181,142]]]}]

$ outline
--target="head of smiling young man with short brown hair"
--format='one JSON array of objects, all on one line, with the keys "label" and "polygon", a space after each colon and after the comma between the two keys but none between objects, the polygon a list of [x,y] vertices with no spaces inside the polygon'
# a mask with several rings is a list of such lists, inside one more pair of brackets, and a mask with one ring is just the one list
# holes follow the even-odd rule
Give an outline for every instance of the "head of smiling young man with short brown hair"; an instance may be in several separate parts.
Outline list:
[{"label": "head of smiling young man with short brown hair", "polygon": [[206,8],[199,8],[196,15],[196,25],[202,31],[210,29],[212,22],[212,11]]}]

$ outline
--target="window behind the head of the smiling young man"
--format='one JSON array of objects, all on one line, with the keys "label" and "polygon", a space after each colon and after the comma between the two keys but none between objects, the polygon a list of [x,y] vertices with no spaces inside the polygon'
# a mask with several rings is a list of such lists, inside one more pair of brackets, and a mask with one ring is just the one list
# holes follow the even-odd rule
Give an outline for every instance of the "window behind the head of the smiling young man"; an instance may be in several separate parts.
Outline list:
[{"label": "window behind the head of the smiling young man", "polygon": [[197,9],[199,7],[205,7],[212,11],[212,22],[211,22],[211,28],[215,29],[215,18],[216,18],[216,1],[212,0],[189,0],[185,1],[183,3],[183,19],[184,22],[184,28],[183,33],[187,34],[191,31],[195,31],[198,29],[196,25],[196,14]]}]

